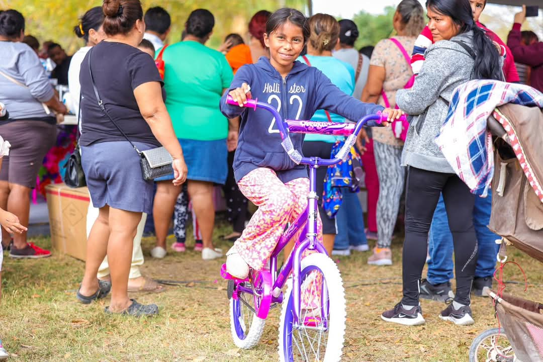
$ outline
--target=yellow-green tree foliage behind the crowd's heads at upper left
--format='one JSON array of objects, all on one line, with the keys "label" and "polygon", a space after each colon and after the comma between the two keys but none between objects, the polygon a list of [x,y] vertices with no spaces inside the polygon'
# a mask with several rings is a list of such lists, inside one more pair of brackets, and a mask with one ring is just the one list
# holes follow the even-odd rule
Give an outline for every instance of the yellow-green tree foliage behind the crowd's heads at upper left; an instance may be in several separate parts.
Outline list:
[{"label": "yellow-green tree foliage behind the crowd's heads at upper left", "polygon": [[[224,36],[235,32],[247,34],[251,16],[258,10],[274,11],[281,7],[292,7],[306,11],[306,0],[142,0],[144,11],[153,6],[165,8],[172,16],[172,31],[168,42],[178,42],[181,31],[191,11],[206,8],[215,16],[215,28],[209,42],[210,47],[220,45]],[[16,9],[26,18],[26,34],[37,37],[40,42],[53,40],[60,43],[71,54],[83,46],[73,28],[79,17],[92,7],[102,5],[101,1],[89,3],[74,0],[0,0],[0,9]]]}]

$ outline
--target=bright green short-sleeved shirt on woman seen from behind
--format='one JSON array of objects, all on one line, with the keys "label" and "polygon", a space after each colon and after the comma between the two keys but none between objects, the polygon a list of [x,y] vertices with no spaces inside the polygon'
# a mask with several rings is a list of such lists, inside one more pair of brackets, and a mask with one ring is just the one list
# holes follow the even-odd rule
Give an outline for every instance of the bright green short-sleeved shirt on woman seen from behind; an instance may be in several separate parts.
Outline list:
[{"label": "bright green short-sleeved shirt on woman seen from behind", "polygon": [[219,111],[219,101],[233,74],[224,55],[199,42],[182,41],[168,46],[162,59],[166,108],[175,135],[197,141],[225,139],[228,119]]}]

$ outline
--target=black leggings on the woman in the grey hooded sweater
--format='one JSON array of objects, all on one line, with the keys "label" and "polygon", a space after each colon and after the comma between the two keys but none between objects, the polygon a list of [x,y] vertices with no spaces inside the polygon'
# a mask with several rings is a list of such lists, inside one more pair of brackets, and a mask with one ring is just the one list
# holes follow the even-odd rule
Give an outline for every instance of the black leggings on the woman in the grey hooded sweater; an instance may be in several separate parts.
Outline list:
[{"label": "black leggings on the woman in the grey hooded sweater", "polygon": [[419,305],[419,281],[426,262],[428,231],[439,194],[443,193],[454,243],[456,294],[454,300],[470,304],[477,264],[477,238],[473,228],[475,195],[455,174],[409,167],[406,185],[406,235],[403,242],[403,299],[406,306]]}]

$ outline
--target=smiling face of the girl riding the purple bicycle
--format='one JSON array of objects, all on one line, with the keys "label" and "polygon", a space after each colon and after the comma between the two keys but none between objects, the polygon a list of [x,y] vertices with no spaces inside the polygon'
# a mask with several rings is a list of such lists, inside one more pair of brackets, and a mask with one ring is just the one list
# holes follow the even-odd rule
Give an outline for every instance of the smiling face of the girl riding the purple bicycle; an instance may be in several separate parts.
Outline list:
[{"label": "smiling face of the girl riding the purple bicycle", "polygon": [[264,44],[270,49],[270,63],[285,77],[304,49],[302,28],[287,21],[270,34],[264,33]]}]

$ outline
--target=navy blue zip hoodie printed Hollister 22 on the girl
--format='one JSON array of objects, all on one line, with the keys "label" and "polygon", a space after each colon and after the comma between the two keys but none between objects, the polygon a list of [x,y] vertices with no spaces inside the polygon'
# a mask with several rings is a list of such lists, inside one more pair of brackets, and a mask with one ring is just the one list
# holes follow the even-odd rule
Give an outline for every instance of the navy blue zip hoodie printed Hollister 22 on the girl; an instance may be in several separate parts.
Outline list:
[{"label": "navy blue zip hoodie printed Hollister 22 on the girl", "polygon": [[[251,87],[252,98],[275,106],[283,119],[311,119],[315,111],[325,109],[346,119],[358,120],[384,109],[380,105],[362,103],[348,96],[319,69],[299,61],[294,62],[291,72],[283,79],[269,59],[262,57],[256,64],[238,69],[229,91],[241,87],[243,83]],[[271,113],[226,104],[229,91],[220,99],[220,110],[228,118],[241,115],[233,163],[236,181],[259,167],[275,170],[283,183],[307,177],[306,166],[294,163],[283,150],[281,136]],[[372,122],[368,125],[376,124]],[[294,148],[302,154],[304,134],[291,134],[291,138]]]}]

